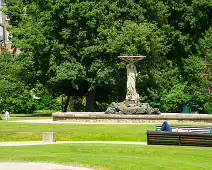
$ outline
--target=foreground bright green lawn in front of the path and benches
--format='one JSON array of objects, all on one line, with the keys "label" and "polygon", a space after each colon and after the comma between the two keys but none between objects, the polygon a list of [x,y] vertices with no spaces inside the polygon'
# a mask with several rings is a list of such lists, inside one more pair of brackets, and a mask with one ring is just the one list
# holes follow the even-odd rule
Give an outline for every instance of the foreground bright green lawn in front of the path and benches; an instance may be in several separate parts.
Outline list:
[{"label": "foreground bright green lawn in front of the path and benches", "polygon": [[0,161],[54,162],[99,170],[211,169],[212,148],[139,145],[0,147]]}]

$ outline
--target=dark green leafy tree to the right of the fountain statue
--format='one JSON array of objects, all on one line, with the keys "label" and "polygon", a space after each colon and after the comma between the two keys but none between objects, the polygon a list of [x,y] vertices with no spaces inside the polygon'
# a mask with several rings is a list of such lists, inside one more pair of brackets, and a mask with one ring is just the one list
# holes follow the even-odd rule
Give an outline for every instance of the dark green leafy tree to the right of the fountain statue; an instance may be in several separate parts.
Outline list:
[{"label": "dark green leafy tree to the right of the fountain statue", "polygon": [[210,47],[204,45],[203,37],[211,27],[212,2],[163,2],[170,14],[168,23],[172,28],[169,31],[171,48],[164,62],[154,65],[154,69],[145,76],[140,76],[139,88],[143,89],[146,101],[160,106],[163,111],[182,112],[184,105],[195,103],[193,111],[203,112],[204,103],[208,100],[203,64],[208,53],[203,52],[203,49],[207,47],[206,51],[210,51]]}]

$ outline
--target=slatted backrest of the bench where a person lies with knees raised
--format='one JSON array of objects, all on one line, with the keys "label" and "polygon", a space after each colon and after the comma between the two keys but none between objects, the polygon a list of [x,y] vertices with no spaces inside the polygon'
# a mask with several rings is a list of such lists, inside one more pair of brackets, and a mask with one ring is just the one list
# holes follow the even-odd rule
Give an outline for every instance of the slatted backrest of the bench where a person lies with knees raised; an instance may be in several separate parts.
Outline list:
[{"label": "slatted backrest of the bench where a person lies with knees raised", "polygon": [[[210,126],[171,126],[172,129],[180,128],[183,130],[189,130],[196,133],[209,133],[212,134],[212,129]],[[156,131],[161,130],[161,125],[156,125]]]}]

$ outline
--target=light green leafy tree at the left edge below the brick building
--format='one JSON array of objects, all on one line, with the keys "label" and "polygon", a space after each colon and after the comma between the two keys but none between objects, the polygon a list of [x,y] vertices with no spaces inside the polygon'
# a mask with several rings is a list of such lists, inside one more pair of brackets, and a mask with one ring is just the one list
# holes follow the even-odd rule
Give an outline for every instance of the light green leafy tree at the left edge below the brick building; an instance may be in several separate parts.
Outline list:
[{"label": "light green leafy tree at the left edge below the brick building", "polygon": [[21,69],[21,64],[14,56],[3,51],[0,55],[0,110],[26,113],[33,109],[29,87],[19,75]]}]

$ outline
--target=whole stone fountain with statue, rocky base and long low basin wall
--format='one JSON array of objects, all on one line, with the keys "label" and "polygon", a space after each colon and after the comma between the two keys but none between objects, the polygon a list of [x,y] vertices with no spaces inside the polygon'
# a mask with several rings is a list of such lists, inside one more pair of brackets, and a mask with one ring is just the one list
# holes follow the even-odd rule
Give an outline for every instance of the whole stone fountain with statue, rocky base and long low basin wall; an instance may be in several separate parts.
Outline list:
[{"label": "whole stone fountain with statue, rocky base and long low basin wall", "polygon": [[160,113],[157,108],[152,108],[148,103],[141,103],[135,86],[137,71],[134,63],[145,57],[120,56],[119,58],[129,62],[127,65],[127,94],[123,102],[112,102],[106,112],[56,112],[53,114],[53,120],[91,124],[105,122],[162,124],[164,120],[174,124],[212,123],[212,115]]}]

